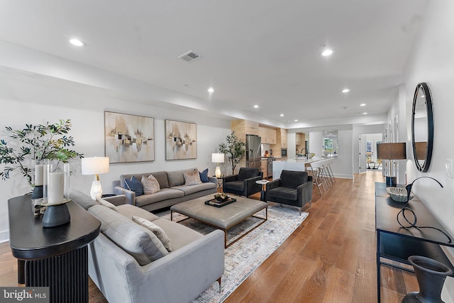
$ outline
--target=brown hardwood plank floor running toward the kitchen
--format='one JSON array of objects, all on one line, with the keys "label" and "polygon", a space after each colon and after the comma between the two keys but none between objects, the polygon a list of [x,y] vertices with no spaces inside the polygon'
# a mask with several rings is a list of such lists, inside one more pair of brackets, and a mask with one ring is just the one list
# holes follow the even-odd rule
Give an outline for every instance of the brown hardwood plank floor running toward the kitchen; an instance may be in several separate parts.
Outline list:
[{"label": "brown hardwood plank floor running toward the kitchen", "polygon": [[[322,196],[314,187],[308,218],[224,302],[377,302],[375,182],[384,182],[381,172],[336,179]],[[18,285],[8,243],[0,244],[0,285]],[[382,266],[382,302],[418,290],[413,274]],[[106,302],[91,280],[89,297]]]}]

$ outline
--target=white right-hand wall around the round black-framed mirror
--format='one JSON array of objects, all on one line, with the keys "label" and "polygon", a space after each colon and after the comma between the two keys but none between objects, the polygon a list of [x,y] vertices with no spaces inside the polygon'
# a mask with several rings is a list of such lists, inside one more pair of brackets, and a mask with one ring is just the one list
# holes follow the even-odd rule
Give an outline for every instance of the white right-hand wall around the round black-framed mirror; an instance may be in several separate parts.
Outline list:
[{"label": "white right-hand wall around the round black-framed mirror", "polygon": [[[414,53],[406,65],[406,97],[400,103],[406,105],[406,143],[411,144],[411,102],[416,84],[427,82],[433,100],[433,156],[428,172],[416,171],[413,155],[406,163],[408,180],[430,176],[443,184],[440,188],[430,179],[414,184],[414,192],[428,206],[441,224],[454,236],[454,180],[445,174],[444,162],[454,159],[453,140],[453,83],[454,83],[454,1],[428,1],[423,25],[414,47]],[[408,151],[408,148],[407,148]],[[452,252],[452,250],[451,250]],[[453,253],[454,255],[454,253]],[[454,262],[453,262],[454,263]],[[445,282],[442,299],[454,302],[454,279]]]}]

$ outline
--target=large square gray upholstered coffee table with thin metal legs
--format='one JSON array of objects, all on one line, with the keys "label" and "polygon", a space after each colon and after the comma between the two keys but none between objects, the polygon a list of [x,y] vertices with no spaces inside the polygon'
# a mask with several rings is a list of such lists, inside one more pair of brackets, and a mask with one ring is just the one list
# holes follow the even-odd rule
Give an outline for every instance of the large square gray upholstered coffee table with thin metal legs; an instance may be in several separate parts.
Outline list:
[{"label": "large square gray upholstered coffee table with thin metal legs", "polygon": [[[199,220],[204,224],[209,224],[216,228],[221,228],[225,233],[224,245],[226,248],[228,248],[228,246],[231,246],[233,243],[240,240],[240,238],[243,238],[243,236],[247,235],[255,228],[265,223],[265,221],[267,221],[268,219],[268,205],[265,202],[239,196],[231,197],[233,199],[236,199],[236,202],[222,207],[215,207],[205,204],[206,201],[213,199],[213,195],[211,194],[208,196],[192,199],[187,202],[175,204],[170,207],[170,220],[173,220],[173,212],[176,211],[177,213],[188,216],[189,218]],[[262,209],[265,209],[265,218],[254,216],[255,213],[261,211]],[[231,241],[231,243],[227,243],[227,230],[233,226],[236,226],[236,224],[239,224],[245,219],[248,219],[250,216],[262,219],[262,221],[260,222],[260,224],[254,226],[254,228],[251,228],[248,232],[244,233],[239,238]]]}]

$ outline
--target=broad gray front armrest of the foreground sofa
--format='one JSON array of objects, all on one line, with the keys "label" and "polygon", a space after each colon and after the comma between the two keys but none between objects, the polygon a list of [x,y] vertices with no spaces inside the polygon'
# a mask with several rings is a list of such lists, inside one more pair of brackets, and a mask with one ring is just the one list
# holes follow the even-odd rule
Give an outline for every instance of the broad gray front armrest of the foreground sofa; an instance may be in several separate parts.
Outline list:
[{"label": "broad gray front armrest of the foreground sofa", "polygon": [[153,302],[187,302],[206,290],[223,272],[224,233],[216,230],[138,268],[128,280],[136,280],[130,285],[131,295],[137,296],[135,302],[147,302],[150,297]]}]

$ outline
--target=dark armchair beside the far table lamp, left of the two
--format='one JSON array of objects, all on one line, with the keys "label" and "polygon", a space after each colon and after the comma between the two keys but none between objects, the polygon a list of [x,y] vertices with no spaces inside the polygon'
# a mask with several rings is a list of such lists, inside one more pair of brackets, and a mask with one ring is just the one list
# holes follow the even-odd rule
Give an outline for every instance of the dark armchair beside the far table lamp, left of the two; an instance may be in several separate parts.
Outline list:
[{"label": "dark armchair beside the far table lamp, left of the two", "polygon": [[249,197],[262,190],[262,185],[255,183],[255,181],[262,180],[262,177],[263,172],[260,172],[258,168],[240,167],[237,175],[223,177],[223,192]]}]

